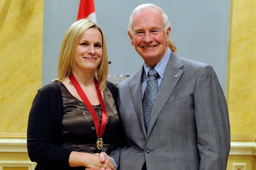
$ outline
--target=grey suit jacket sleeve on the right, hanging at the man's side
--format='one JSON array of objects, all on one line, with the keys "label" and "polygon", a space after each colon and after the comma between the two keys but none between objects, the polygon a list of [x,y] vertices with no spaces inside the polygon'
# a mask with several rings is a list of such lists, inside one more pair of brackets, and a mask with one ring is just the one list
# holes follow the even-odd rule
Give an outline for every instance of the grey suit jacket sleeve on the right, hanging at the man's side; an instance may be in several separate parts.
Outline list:
[{"label": "grey suit jacket sleeve on the right, hanging at the man's side", "polygon": [[200,170],[226,169],[230,151],[228,108],[218,78],[209,65],[197,76],[194,114]]}]

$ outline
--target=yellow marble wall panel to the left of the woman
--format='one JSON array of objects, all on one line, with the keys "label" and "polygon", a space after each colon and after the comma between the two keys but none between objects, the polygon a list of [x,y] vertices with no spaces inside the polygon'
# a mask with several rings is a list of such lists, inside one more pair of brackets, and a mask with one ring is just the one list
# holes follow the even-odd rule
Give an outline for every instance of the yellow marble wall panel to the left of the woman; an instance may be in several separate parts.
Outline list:
[{"label": "yellow marble wall panel to the left of the woman", "polygon": [[26,138],[41,87],[43,0],[0,1],[0,137]]}]

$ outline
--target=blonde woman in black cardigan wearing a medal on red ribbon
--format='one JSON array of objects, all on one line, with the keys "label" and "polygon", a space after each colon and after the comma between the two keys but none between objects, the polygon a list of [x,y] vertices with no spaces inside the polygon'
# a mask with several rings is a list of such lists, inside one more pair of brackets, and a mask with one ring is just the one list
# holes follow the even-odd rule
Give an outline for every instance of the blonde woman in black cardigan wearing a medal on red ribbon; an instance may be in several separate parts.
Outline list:
[{"label": "blonde woman in black cardigan wearing a medal on red ribbon", "polygon": [[122,128],[118,89],[107,73],[101,28],[76,21],[63,38],[57,78],[38,90],[29,113],[27,147],[35,169],[115,169],[108,155],[118,161]]}]

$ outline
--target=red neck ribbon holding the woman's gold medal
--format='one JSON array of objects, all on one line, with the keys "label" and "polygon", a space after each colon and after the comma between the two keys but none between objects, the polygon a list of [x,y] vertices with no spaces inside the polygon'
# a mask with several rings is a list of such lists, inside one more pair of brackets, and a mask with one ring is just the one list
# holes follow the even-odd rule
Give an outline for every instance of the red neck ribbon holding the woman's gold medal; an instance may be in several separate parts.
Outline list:
[{"label": "red neck ribbon holding the woman's gold medal", "polygon": [[100,105],[101,105],[101,109],[102,109],[101,127],[100,127],[100,122],[99,122],[98,116],[97,116],[92,104],[90,103],[89,99],[87,98],[86,94],[84,93],[84,90],[79,85],[79,83],[76,80],[73,73],[70,73],[69,80],[74,85],[78,95],[81,97],[81,99],[85,103],[86,107],[88,108],[89,112],[91,113],[93,121],[94,121],[94,125],[95,125],[95,128],[96,128],[97,136],[98,136],[98,138],[101,138],[103,136],[103,133],[105,131],[105,127],[106,127],[106,124],[107,124],[107,111],[106,111],[104,100],[103,100],[102,95],[101,95],[98,80],[96,78],[94,78],[98,98],[100,100]]}]

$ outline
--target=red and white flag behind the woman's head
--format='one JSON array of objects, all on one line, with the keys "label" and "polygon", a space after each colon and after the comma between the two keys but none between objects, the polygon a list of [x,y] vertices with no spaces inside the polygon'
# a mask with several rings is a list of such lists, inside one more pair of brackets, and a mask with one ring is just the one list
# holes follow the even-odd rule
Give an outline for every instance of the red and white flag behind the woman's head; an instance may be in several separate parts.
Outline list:
[{"label": "red and white flag behind the woman's head", "polygon": [[96,23],[96,14],[93,0],[80,0],[77,20],[87,18]]}]

